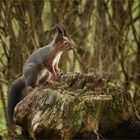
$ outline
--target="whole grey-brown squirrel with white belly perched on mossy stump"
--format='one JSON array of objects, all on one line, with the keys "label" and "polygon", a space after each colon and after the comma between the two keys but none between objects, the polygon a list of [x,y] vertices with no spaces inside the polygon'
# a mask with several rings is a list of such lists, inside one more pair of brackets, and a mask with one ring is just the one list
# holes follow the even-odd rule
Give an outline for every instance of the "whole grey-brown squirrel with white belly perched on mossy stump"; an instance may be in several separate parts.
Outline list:
[{"label": "whole grey-brown squirrel with white belly perched on mossy stump", "polygon": [[58,63],[61,54],[72,49],[71,41],[63,26],[57,25],[57,34],[47,46],[37,49],[31,54],[23,66],[23,75],[11,86],[8,97],[8,121],[14,129],[13,114],[16,104],[29,92],[28,87],[36,87],[40,82],[56,80],[60,72]]}]

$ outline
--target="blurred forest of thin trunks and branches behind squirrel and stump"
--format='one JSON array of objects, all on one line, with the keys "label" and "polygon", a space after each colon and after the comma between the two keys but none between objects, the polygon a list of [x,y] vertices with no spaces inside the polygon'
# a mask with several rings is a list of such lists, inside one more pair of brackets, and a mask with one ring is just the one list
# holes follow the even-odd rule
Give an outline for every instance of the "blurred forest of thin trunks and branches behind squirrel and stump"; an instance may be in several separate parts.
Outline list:
[{"label": "blurred forest of thin trunks and branches behind squirrel and stump", "polygon": [[94,72],[123,86],[140,113],[139,0],[0,0],[0,134],[7,133],[9,86],[58,23],[74,48],[62,56],[62,70]]}]

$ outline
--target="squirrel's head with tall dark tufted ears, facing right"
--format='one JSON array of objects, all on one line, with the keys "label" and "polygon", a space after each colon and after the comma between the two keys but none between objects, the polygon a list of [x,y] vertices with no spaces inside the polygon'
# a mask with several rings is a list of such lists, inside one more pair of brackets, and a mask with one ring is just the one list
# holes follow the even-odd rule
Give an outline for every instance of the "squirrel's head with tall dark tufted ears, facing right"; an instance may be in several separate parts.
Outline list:
[{"label": "squirrel's head with tall dark tufted ears, facing right", "polygon": [[57,25],[57,34],[54,38],[55,46],[60,51],[69,51],[72,49],[71,41],[68,39],[66,30],[62,25]]}]

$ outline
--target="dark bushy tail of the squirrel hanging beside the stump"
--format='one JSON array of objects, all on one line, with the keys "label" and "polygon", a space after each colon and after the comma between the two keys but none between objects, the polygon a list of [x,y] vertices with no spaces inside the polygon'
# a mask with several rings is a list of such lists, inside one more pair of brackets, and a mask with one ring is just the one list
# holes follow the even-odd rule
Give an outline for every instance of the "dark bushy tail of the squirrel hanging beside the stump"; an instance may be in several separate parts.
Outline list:
[{"label": "dark bushy tail of the squirrel hanging beside the stump", "polygon": [[8,123],[10,129],[14,129],[15,125],[13,122],[13,114],[14,114],[14,108],[16,104],[21,100],[22,98],[22,91],[25,88],[25,82],[23,79],[23,76],[19,77],[11,86],[9,96],[8,96]]}]

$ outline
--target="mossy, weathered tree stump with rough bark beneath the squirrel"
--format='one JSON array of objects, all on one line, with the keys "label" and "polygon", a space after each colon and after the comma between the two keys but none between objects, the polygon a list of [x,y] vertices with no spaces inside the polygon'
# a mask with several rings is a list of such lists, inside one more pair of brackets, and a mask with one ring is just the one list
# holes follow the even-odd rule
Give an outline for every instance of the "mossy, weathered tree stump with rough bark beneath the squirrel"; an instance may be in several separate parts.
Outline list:
[{"label": "mossy, weathered tree stump with rough bark beneath the squirrel", "polygon": [[15,108],[16,124],[33,139],[90,138],[135,119],[130,95],[98,75],[67,73],[36,87]]}]

